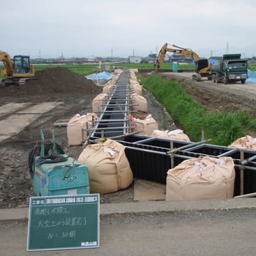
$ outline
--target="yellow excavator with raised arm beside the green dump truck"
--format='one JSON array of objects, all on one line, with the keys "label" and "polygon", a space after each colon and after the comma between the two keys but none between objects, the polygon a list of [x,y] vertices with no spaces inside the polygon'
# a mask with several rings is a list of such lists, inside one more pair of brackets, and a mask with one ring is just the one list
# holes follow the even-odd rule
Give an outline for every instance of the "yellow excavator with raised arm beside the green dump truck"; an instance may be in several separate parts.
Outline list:
[{"label": "yellow excavator with raised arm beside the green dump truck", "polygon": [[208,59],[201,59],[199,55],[197,55],[197,53],[195,53],[190,49],[182,48],[175,44],[171,46],[175,48],[170,48],[169,44],[167,43],[162,46],[162,48],[158,53],[158,57],[156,58],[156,61],[154,63],[154,70],[157,71],[158,68],[160,68],[160,66],[162,65],[162,61],[165,58],[165,54],[167,52],[176,53],[176,54],[188,56],[195,60],[195,66],[196,66],[195,72],[197,73],[197,74],[193,74],[193,79],[195,81],[201,81],[202,77],[207,77],[208,80],[212,80],[212,76],[210,73],[210,61]]}]

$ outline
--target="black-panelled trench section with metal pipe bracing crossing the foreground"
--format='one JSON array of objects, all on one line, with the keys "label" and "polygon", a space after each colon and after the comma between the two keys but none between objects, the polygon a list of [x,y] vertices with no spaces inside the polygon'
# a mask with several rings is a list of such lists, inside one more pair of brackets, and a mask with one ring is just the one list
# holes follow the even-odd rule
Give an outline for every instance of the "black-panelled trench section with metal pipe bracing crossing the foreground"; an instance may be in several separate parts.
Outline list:
[{"label": "black-panelled trench section with metal pipe bracing crossing the foreground", "polygon": [[[126,156],[130,162],[134,177],[166,184],[167,171],[171,169],[171,158],[169,154],[167,154],[170,150],[170,148],[167,147],[170,143],[169,140],[135,135],[126,137],[125,141],[119,141],[119,143],[126,146]],[[189,145],[189,143],[184,141],[173,141],[174,148],[179,148],[184,145]],[[147,150],[150,152],[147,152]],[[158,154],[159,152],[162,152],[163,154]],[[173,165],[175,167],[185,159],[198,158],[202,155],[215,158],[221,156],[229,156],[233,158],[236,171],[234,196],[240,195],[240,150],[208,144],[200,145],[200,147],[189,147],[186,151],[181,150],[175,152]],[[253,156],[255,156],[255,152],[244,150],[244,159]],[[244,165],[244,194],[256,192],[255,170],[256,160]]]}]

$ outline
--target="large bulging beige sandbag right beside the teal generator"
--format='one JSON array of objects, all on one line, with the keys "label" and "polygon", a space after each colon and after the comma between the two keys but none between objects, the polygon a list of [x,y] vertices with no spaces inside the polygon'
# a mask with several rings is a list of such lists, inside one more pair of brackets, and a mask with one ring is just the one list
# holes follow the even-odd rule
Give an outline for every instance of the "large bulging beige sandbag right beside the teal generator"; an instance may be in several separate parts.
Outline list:
[{"label": "large bulging beige sandbag right beside the teal generator", "polygon": [[111,139],[85,147],[78,161],[88,168],[91,193],[111,193],[132,184],[132,170],[124,150],[124,145]]}]

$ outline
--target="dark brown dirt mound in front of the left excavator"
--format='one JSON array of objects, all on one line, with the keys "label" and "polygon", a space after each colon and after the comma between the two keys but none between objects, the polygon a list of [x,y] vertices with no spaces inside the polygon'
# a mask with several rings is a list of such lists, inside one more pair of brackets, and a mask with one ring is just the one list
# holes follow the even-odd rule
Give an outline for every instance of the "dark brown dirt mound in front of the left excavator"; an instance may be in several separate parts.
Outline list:
[{"label": "dark brown dirt mound in front of the left excavator", "polygon": [[10,85],[1,88],[1,96],[48,97],[49,94],[74,95],[95,94],[102,91],[91,80],[76,74],[68,68],[46,68],[35,73],[35,78],[25,85]]}]

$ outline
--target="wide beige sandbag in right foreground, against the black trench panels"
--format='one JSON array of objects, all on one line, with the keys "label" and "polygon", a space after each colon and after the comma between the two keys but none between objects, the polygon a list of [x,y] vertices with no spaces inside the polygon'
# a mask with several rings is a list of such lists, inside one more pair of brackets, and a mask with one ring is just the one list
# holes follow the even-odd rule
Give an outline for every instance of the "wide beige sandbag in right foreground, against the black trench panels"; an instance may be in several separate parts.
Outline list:
[{"label": "wide beige sandbag in right foreground, against the black trench panels", "polygon": [[184,160],[167,172],[166,200],[231,198],[235,176],[231,157]]}]

